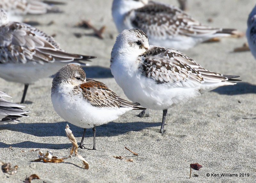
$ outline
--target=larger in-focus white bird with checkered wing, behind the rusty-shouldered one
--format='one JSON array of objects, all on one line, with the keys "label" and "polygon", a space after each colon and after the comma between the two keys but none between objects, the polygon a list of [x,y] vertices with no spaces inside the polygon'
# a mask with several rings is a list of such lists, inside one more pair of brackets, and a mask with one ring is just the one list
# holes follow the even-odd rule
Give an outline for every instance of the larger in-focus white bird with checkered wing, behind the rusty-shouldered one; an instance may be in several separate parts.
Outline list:
[{"label": "larger in-focus white bird with checkered wing, behind the rusty-shouldered one", "polygon": [[167,109],[225,85],[233,78],[204,69],[187,55],[159,46],[149,46],[142,30],[122,31],[111,52],[110,69],[124,94],[141,106],[163,110],[160,133]]}]

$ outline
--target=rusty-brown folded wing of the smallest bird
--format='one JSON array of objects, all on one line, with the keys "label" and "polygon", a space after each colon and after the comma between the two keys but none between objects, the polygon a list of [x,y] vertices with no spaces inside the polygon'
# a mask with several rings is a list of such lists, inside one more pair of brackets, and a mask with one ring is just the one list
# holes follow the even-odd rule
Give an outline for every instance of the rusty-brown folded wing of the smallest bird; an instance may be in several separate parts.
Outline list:
[{"label": "rusty-brown folded wing of the smallest bird", "polygon": [[[109,89],[104,83],[95,80],[87,80],[80,85],[83,91],[84,99],[95,107],[120,108],[128,107],[133,109],[143,109],[138,107],[139,103],[132,103],[117,96],[115,92]],[[144,108],[145,109],[145,108]]]}]

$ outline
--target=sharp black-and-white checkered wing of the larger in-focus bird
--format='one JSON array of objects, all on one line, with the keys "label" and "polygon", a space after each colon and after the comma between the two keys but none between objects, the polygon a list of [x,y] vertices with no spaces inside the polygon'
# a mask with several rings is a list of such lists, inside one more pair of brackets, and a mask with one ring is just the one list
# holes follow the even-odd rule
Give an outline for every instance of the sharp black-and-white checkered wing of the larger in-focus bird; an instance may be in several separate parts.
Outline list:
[{"label": "sharp black-and-white checkered wing of the larger in-focus bird", "polygon": [[171,48],[150,46],[138,59],[142,75],[157,84],[166,83],[171,87],[197,87],[205,82],[232,81],[231,78],[236,77],[206,70],[185,54]]}]

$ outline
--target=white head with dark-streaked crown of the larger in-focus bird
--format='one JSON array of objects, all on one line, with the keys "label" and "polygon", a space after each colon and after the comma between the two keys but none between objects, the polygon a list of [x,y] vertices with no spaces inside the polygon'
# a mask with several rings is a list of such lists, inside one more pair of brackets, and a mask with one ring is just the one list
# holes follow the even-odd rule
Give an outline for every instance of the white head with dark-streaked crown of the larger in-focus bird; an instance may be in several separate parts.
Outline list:
[{"label": "white head with dark-streaked crown of the larger in-focus bird", "polygon": [[114,56],[113,54],[116,54],[116,51],[119,54],[140,55],[148,48],[148,36],[145,32],[140,29],[126,29],[116,37],[111,56]]}]

